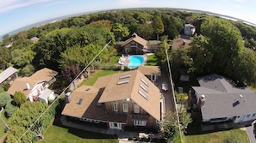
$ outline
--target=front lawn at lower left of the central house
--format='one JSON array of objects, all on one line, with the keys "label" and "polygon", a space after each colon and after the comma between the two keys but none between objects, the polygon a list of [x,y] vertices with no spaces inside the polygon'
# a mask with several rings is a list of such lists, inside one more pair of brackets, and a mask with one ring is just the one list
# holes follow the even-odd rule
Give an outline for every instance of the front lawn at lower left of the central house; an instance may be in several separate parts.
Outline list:
[{"label": "front lawn at lower left of the central house", "polygon": [[117,143],[118,140],[111,135],[92,133],[76,128],[62,128],[55,125],[50,125],[44,134],[44,140],[40,143],[49,142],[90,142],[90,143]]}]

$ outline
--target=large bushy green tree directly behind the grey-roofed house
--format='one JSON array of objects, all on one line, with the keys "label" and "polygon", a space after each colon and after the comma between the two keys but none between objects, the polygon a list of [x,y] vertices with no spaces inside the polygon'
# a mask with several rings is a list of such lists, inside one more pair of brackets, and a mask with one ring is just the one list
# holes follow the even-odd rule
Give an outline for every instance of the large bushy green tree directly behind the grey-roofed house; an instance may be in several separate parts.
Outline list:
[{"label": "large bushy green tree directly behind the grey-roofed house", "polygon": [[211,71],[229,74],[244,48],[239,29],[228,20],[215,18],[203,22],[201,33],[209,39],[209,45],[205,48],[213,54],[213,63],[209,67]]}]

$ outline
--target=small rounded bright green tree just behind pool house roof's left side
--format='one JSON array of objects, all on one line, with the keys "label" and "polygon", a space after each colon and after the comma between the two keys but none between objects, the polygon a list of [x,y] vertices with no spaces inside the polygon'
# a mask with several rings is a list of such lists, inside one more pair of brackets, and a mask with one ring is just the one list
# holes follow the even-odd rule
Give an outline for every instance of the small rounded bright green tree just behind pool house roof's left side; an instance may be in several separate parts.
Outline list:
[{"label": "small rounded bright green tree just behind pool house roof's left side", "polygon": [[129,34],[128,27],[122,26],[121,23],[116,23],[112,28],[112,31],[117,41],[121,41],[123,38],[127,37]]}]

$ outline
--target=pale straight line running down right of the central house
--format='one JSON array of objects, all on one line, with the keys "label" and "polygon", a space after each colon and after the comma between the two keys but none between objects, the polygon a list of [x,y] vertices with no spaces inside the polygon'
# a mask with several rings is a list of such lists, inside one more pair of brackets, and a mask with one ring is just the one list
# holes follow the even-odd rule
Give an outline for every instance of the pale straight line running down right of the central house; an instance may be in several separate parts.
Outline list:
[{"label": "pale straight line running down right of the central house", "polygon": [[[165,40],[164,40],[164,42],[165,42]],[[169,61],[168,52],[167,52],[167,48],[166,48],[166,43],[165,43],[165,54],[166,54],[166,59],[167,59],[170,82],[171,82],[171,86],[172,86],[172,96],[173,96],[173,100],[174,100],[175,111],[176,111],[176,116],[177,116],[177,121],[178,121],[178,131],[179,131],[180,141],[181,141],[181,143],[183,143],[181,129],[180,129],[180,123],[179,123],[178,110],[177,110],[176,97],[175,97],[173,83],[172,83],[172,71],[171,71],[170,61]]]}]

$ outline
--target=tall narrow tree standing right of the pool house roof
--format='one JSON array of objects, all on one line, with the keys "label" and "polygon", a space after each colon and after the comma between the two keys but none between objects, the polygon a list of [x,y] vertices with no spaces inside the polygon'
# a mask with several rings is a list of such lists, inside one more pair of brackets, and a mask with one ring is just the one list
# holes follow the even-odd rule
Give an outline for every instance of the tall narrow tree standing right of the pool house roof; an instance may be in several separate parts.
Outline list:
[{"label": "tall narrow tree standing right of the pool house roof", "polygon": [[154,15],[153,17],[153,30],[157,34],[157,40],[159,41],[159,34],[164,32],[164,24],[159,15]]}]

